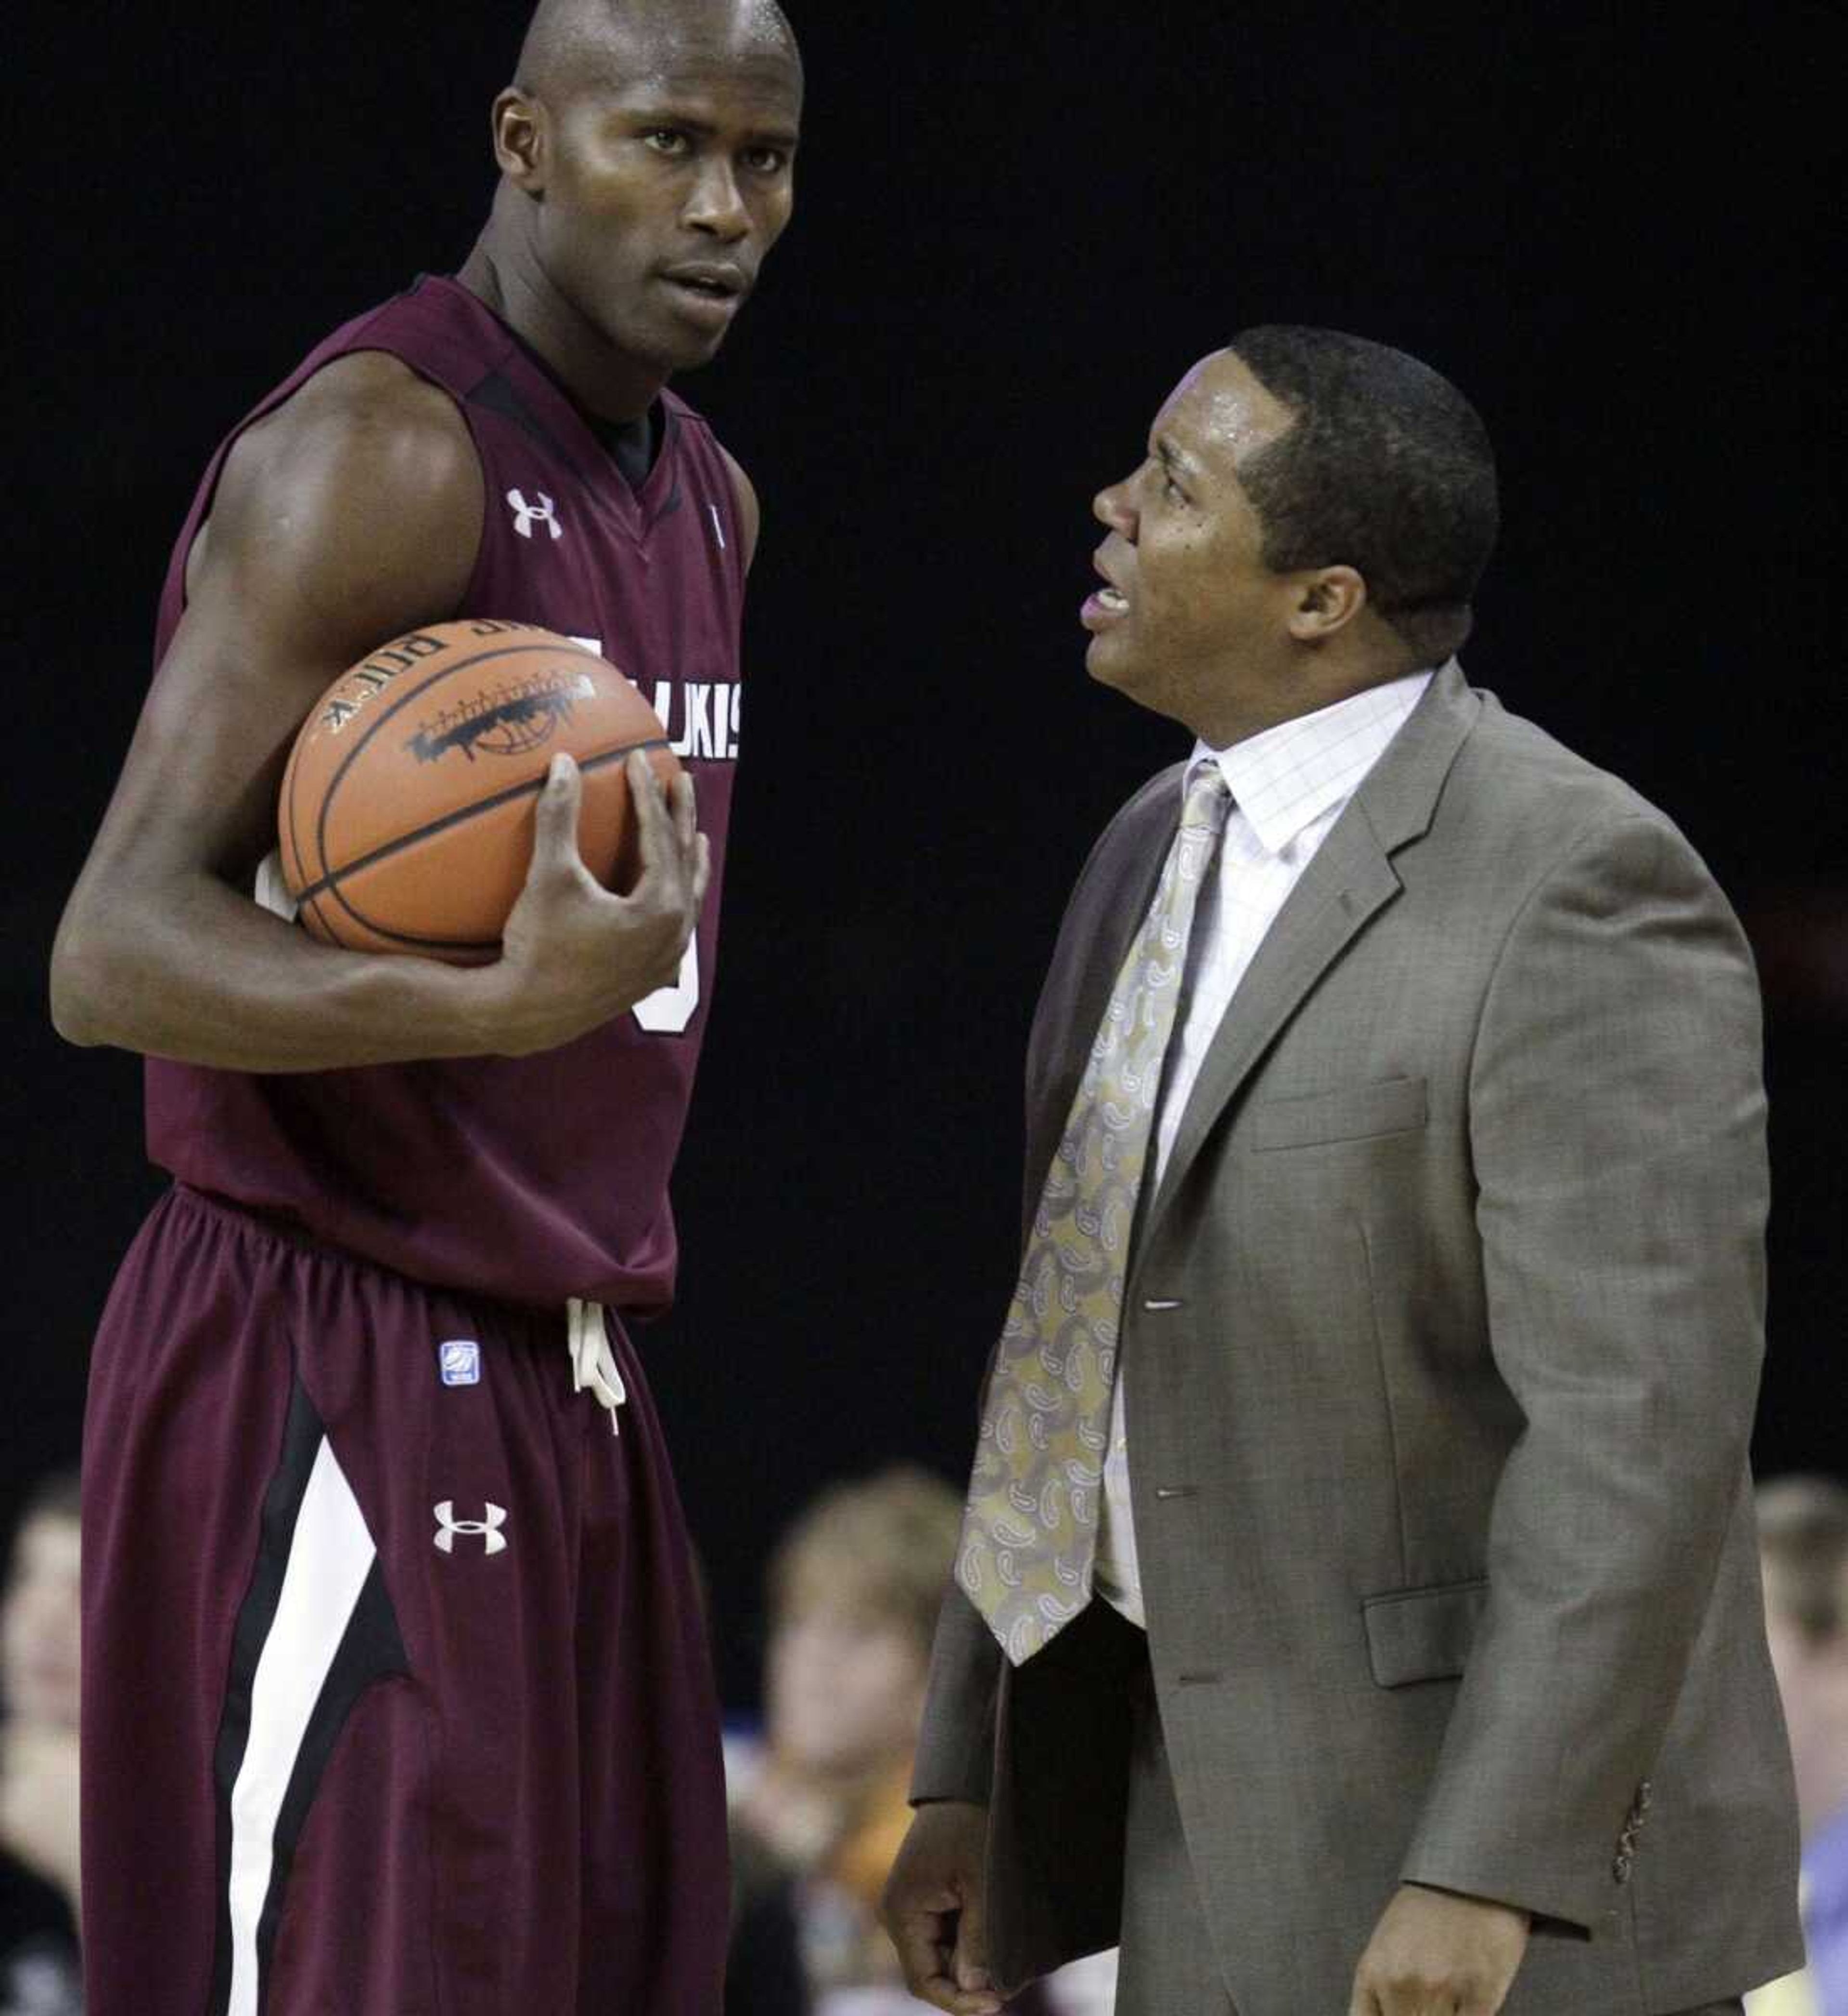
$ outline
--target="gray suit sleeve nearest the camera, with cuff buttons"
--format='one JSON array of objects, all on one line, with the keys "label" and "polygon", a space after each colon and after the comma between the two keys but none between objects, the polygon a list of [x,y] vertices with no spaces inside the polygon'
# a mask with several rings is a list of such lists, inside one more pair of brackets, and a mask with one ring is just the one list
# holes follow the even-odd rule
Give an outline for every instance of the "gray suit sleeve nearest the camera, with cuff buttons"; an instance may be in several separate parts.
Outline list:
[{"label": "gray suit sleeve nearest the camera, with cuff buttons", "polygon": [[1566,1931],[1620,1901],[1745,1476],[1759,1058],[1751,958],[1693,849],[1644,816],[1580,839],[1509,929],[1471,1062],[1489,1343],[1526,1425],[1407,1881]]}]

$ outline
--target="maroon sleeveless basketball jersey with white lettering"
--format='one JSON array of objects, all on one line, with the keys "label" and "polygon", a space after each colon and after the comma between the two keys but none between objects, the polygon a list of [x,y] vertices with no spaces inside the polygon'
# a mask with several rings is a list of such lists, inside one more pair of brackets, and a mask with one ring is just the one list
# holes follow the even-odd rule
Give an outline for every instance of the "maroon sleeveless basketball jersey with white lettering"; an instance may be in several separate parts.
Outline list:
[{"label": "maroon sleeveless basketball jersey with white lettering", "polygon": [[232,442],[353,351],[389,351],[441,385],[482,456],[482,552],[468,599],[445,615],[576,637],[667,724],[711,839],[705,911],[673,988],[542,1056],[280,1075],[149,1058],[149,1153],[197,1189],[419,1280],[659,1310],[673,1294],[667,1175],[711,998],[738,756],[732,478],[705,421],[663,393],[661,448],[633,492],[506,325],[453,280],[425,278],[328,337],[218,450],[173,548],[155,663]]}]

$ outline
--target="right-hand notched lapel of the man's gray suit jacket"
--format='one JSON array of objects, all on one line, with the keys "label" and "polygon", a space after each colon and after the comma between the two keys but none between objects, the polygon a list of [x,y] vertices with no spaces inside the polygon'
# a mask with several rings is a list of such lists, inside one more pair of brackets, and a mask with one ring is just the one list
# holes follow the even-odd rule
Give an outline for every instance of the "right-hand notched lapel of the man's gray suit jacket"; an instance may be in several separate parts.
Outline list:
[{"label": "right-hand notched lapel of the man's gray suit jacket", "polygon": [[1399,895],[1391,857],[1431,827],[1443,780],[1479,712],[1481,696],[1469,689],[1451,661],[1290,891],[1201,1062],[1175,1147],[1143,1220],[1139,1244],[1145,1248],[1253,1064],[1342,950]]}]

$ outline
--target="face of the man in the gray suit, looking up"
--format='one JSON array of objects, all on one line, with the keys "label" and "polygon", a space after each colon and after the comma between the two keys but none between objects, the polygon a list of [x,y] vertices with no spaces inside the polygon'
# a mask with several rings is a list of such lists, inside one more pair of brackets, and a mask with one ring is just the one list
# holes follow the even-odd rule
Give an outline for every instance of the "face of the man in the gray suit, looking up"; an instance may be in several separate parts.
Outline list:
[{"label": "face of the man in the gray suit, looking up", "polygon": [[1219,748],[1300,710],[1290,647],[1302,581],[1260,558],[1237,474],[1292,417],[1217,351],[1169,393],[1141,466],[1092,506],[1110,536],[1096,550],[1106,587],[1080,615],[1090,675]]}]

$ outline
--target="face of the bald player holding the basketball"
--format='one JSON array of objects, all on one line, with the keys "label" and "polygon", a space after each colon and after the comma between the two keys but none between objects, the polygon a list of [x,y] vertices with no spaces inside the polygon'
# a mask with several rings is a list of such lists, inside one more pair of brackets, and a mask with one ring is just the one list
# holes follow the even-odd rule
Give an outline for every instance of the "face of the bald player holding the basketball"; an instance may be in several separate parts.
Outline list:
[{"label": "face of the bald player holding the basketball", "polygon": [[625,357],[705,363],[790,220],[794,54],[748,4],[623,10],[552,99],[516,177],[546,278]]}]

